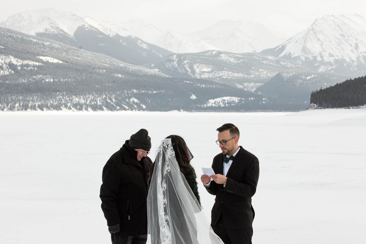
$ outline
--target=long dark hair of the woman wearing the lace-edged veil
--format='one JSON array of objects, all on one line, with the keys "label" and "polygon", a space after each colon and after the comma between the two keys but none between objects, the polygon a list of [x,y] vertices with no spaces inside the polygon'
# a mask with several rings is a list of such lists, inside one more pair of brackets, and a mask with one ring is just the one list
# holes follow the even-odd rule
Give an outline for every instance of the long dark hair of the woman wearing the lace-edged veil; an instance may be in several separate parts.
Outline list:
[{"label": "long dark hair of the woman wearing the lace-edged veil", "polygon": [[[194,172],[194,168],[190,164],[191,157],[188,153],[188,147],[187,147],[187,144],[184,141],[184,139],[178,135],[170,135],[170,136],[167,136],[165,139],[171,139],[171,141],[172,141],[175,158],[177,159],[180,172],[182,172],[183,168],[188,168],[188,169],[192,170],[192,177],[194,177],[194,179],[195,179],[197,176],[196,176],[196,173]],[[156,161],[156,159],[155,159],[155,161]],[[149,180],[148,180],[149,185],[151,182],[151,177],[154,172],[155,161],[150,169],[150,175],[149,175]]]}]

